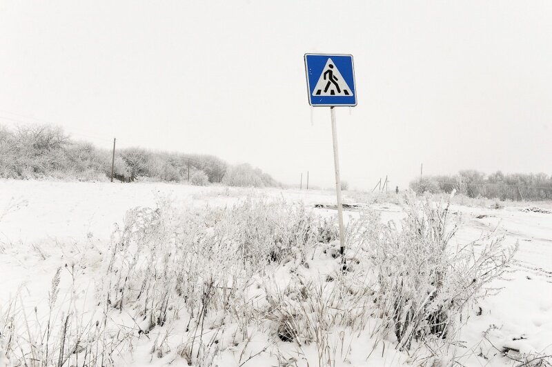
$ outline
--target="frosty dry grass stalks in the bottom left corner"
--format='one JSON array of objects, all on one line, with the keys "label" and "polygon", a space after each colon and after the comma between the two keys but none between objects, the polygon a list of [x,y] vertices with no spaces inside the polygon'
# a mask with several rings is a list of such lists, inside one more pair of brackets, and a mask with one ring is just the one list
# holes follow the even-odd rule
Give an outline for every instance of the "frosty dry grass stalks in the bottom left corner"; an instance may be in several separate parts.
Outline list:
[{"label": "frosty dry grass stalks in the bottom left corner", "polygon": [[86,317],[77,305],[74,288],[69,290],[70,299],[60,299],[60,281],[58,268],[46,312],[39,306],[28,308],[21,292],[2,310],[0,361],[11,363],[6,366],[113,366],[111,355],[128,335],[108,330],[105,314],[93,312]]}]

